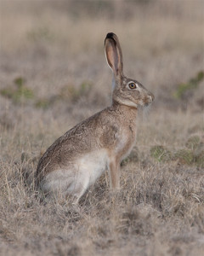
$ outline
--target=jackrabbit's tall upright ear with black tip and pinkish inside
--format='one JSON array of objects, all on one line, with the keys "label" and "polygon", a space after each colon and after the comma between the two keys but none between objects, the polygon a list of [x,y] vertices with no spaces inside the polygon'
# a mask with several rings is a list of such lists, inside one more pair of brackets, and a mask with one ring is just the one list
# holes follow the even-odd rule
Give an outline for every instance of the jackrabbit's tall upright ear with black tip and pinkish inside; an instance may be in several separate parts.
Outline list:
[{"label": "jackrabbit's tall upright ear with black tip and pinkish inside", "polygon": [[116,34],[112,32],[105,38],[105,56],[115,76],[122,76],[122,49]]}]

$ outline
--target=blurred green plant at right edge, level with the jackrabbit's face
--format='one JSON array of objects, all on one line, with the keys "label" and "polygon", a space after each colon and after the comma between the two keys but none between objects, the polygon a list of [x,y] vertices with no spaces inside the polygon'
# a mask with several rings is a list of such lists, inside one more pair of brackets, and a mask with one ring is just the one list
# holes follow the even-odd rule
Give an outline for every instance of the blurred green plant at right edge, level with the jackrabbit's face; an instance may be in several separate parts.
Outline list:
[{"label": "blurred green plant at right edge, level with the jackrabbit's face", "polygon": [[195,78],[190,79],[186,83],[178,84],[177,90],[174,92],[173,96],[176,99],[184,99],[186,93],[188,91],[195,90],[199,86],[203,78],[204,78],[204,72],[201,71],[196,74]]}]

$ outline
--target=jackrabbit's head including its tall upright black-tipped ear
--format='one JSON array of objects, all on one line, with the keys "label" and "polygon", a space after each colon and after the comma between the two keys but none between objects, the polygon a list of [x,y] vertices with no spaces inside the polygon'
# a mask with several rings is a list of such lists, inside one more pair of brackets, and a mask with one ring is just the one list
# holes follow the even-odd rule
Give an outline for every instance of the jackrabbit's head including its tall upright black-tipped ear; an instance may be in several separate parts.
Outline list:
[{"label": "jackrabbit's head including its tall upright black-tipped ear", "polygon": [[154,96],[142,84],[123,75],[122,49],[114,33],[108,33],[105,38],[105,56],[113,77],[113,102],[138,108],[146,107],[154,101]]}]

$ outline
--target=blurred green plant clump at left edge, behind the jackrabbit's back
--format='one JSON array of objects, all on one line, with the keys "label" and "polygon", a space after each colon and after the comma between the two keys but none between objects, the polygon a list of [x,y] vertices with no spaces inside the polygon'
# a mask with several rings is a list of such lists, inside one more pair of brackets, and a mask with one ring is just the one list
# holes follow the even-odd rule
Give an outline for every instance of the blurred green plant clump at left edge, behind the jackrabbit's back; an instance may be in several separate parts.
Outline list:
[{"label": "blurred green plant clump at left edge, behind the jackrabbit's back", "polygon": [[3,88],[0,94],[11,99],[14,103],[21,103],[31,100],[34,93],[31,89],[26,87],[26,79],[19,77],[14,79],[14,86]]}]

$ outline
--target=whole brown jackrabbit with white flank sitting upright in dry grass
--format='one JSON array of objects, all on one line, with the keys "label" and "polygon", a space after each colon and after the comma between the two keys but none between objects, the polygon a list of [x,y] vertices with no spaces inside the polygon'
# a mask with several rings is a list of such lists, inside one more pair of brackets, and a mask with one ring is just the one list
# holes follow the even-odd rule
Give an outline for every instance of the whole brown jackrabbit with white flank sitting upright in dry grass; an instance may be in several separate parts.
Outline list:
[{"label": "whole brown jackrabbit with white flank sitting upright in dry grass", "polygon": [[36,183],[44,193],[74,195],[77,203],[106,169],[111,189],[120,188],[120,164],[136,140],[138,107],[148,106],[154,96],[123,75],[122,49],[112,32],[105,38],[105,56],[113,72],[111,107],[67,131],[42,155]]}]

